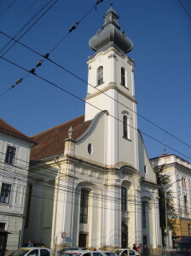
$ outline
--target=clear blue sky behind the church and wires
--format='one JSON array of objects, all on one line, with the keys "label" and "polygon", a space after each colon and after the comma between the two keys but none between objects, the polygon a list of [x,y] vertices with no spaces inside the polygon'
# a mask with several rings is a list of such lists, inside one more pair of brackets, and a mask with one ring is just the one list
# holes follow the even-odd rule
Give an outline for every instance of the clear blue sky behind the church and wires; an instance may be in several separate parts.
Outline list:
[{"label": "clear blue sky behind the church and wires", "polygon": [[[1,0],[0,31],[13,37],[43,3],[47,1]],[[59,0],[26,32],[20,42],[42,55],[49,53],[67,34],[72,24],[81,20],[95,3],[95,0]],[[55,48],[49,56],[50,59],[87,81],[86,61],[89,55],[94,54],[89,48],[89,39],[101,29],[102,16],[109,9],[110,3],[113,3],[113,9],[120,17],[121,30],[124,30],[134,44],[128,55],[136,62],[137,112],[191,145],[190,0],[103,0]],[[2,34],[0,38],[2,49],[9,39]],[[4,51],[0,55],[3,53]],[[42,57],[19,44],[15,44],[4,57],[27,70],[31,70],[42,60]],[[2,59],[0,70],[0,94],[27,74]],[[87,84],[49,61],[44,61],[36,73],[82,99],[86,96]],[[60,125],[81,114],[84,114],[84,102],[55,89],[32,74],[0,97],[0,118],[27,136]],[[138,127],[150,137],[160,142],[165,141],[166,145],[171,146],[173,149],[166,148],[168,154],[177,154],[191,161],[191,148],[184,143],[160,131],[141,117],[138,118]],[[162,144],[144,135],[143,138],[150,158],[163,153]]]}]

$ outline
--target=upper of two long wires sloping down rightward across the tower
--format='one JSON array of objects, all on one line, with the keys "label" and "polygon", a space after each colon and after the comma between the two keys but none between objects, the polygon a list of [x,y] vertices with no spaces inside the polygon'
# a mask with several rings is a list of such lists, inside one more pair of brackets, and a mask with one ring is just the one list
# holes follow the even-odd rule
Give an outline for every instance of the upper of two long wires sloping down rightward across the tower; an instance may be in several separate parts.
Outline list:
[{"label": "upper of two long wires sloping down rightward across the tower", "polygon": [[[6,37],[8,37],[8,38],[11,38],[11,37],[9,37],[9,35],[7,35],[7,34],[4,33],[4,32],[1,32],[1,31],[0,31],[0,33],[2,33],[4,36],[6,36]],[[13,38],[13,40],[14,40],[14,38]],[[102,94],[104,94],[105,96],[111,98],[113,101],[118,102],[118,103],[119,103],[120,105],[122,105],[124,108],[128,108],[128,109],[129,109],[130,111],[132,111],[133,113],[136,113],[136,114],[137,114],[138,116],[140,116],[142,119],[145,119],[146,121],[148,121],[148,123],[150,123],[151,125],[157,127],[157,128],[158,128],[159,130],[161,130],[161,131],[164,131],[164,132],[165,132],[166,134],[168,134],[169,136],[171,136],[171,137],[177,139],[177,141],[179,141],[180,143],[183,143],[184,145],[188,146],[188,148],[191,148],[191,146],[190,146],[188,143],[183,142],[180,138],[178,138],[178,137],[174,136],[173,134],[171,134],[171,132],[166,131],[164,128],[160,127],[159,125],[156,125],[155,123],[153,123],[153,121],[147,119],[147,118],[144,117],[142,114],[137,113],[135,110],[133,110],[133,109],[131,109],[131,108],[125,106],[123,103],[121,103],[121,102],[119,102],[118,100],[114,99],[112,96],[107,95],[107,93],[105,93],[105,92],[102,91],[102,90],[99,90],[97,87],[95,87],[95,86],[93,86],[92,84],[88,83],[86,80],[80,78],[80,77],[79,77],[78,75],[76,75],[75,73],[72,73],[72,72],[69,71],[66,67],[63,67],[63,66],[61,66],[60,64],[56,63],[55,61],[52,61],[52,60],[49,58],[49,54],[42,55],[42,54],[40,54],[38,51],[36,51],[36,50],[34,50],[34,49],[32,49],[32,48],[26,46],[26,44],[22,44],[22,43],[20,43],[18,40],[15,40],[15,41],[16,41],[16,43],[22,45],[22,46],[25,47],[26,49],[31,50],[33,53],[42,56],[42,57],[43,57],[43,61],[44,61],[44,59],[47,59],[48,61],[52,62],[55,66],[60,67],[62,70],[66,71],[67,73],[70,73],[70,74],[71,74],[73,77],[75,77],[76,79],[81,80],[81,81],[84,82],[85,84],[89,84],[91,87],[95,88],[96,90],[98,90],[99,92],[101,92]],[[42,63],[43,61],[38,61],[38,64],[37,64],[36,67],[41,66],[41,63]],[[40,65],[39,65],[39,63],[40,63]],[[38,66],[38,65],[39,65],[39,66]],[[32,72],[35,72],[35,68],[32,68]],[[32,72],[31,72],[31,73],[32,73]],[[17,80],[17,81],[18,81],[18,80]],[[17,84],[17,81],[11,86],[11,88],[9,88],[9,90],[11,90],[11,89],[14,88],[14,86]],[[22,81],[22,79],[21,79],[21,81]],[[6,92],[8,92],[9,90],[4,91],[3,94],[0,95],[0,96],[3,96],[3,95],[4,95]]]}]

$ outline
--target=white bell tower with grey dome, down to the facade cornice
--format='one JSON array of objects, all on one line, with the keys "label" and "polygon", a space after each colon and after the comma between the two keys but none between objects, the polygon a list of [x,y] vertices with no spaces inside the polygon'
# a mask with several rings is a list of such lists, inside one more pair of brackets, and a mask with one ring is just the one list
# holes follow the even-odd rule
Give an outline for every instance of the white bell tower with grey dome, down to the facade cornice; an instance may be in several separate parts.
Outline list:
[{"label": "white bell tower with grey dome, down to the facade cornice", "polygon": [[[127,152],[124,154],[120,147],[130,148],[130,164],[137,168],[135,64],[126,55],[133,44],[130,38],[120,31],[119,15],[112,5],[103,17],[102,30],[98,30],[89,41],[90,48],[96,51],[96,54],[91,55],[87,61],[89,78],[85,99],[85,121],[107,110],[107,164],[114,165],[119,161],[128,160]],[[130,144],[132,141],[134,143]]]}]

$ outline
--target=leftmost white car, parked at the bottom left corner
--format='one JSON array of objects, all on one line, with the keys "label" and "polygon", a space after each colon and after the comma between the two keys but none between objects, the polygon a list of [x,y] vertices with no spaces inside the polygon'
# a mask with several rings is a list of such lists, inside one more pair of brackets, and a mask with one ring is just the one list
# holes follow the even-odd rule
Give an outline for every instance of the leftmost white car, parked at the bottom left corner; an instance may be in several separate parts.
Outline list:
[{"label": "leftmost white car, parked at the bottom left corner", "polygon": [[55,253],[49,248],[45,247],[21,247],[16,250],[14,253],[10,254],[11,256],[55,256]]}]

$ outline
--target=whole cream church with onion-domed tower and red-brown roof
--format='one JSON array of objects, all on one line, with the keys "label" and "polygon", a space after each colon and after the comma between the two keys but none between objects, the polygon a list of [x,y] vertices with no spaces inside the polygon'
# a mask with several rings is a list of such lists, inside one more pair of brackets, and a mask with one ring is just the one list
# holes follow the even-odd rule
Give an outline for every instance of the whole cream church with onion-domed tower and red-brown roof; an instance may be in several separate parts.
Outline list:
[{"label": "whole cream church with onion-domed tower and red-brown roof", "polygon": [[83,116],[32,137],[25,241],[72,247],[161,247],[159,196],[137,129],[133,44],[113,7],[90,38]]}]

